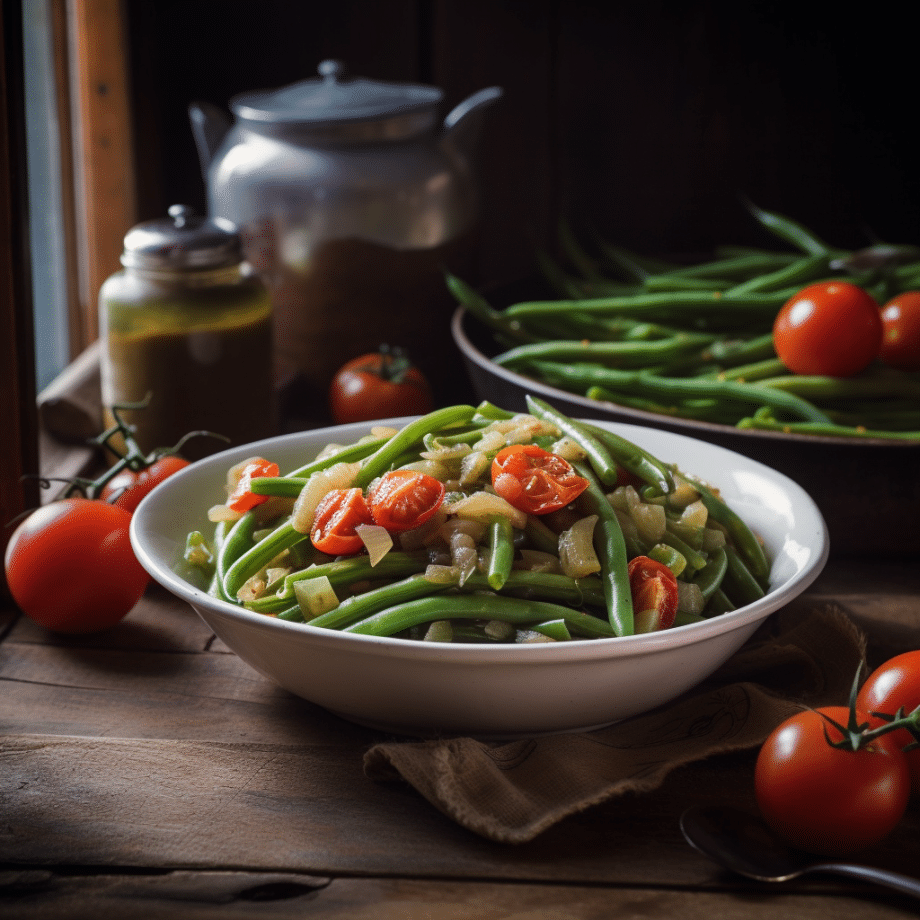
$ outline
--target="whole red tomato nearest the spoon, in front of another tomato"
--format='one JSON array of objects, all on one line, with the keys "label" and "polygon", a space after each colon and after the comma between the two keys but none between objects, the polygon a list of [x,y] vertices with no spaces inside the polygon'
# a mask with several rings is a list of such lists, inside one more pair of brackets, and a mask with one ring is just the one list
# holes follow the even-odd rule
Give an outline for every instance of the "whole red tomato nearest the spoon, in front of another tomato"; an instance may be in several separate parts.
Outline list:
[{"label": "whole red tomato nearest the spoon, in front of another tomato", "polygon": [[[901,820],[910,798],[907,760],[882,736],[858,751],[832,747],[840,732],[819,713],[847,724],[846,706],[796,713],[764,742],[754,784],[764,820],[794,846],[832,856],[878,843]],[[860,722],[865,713],[857,712]]]}]

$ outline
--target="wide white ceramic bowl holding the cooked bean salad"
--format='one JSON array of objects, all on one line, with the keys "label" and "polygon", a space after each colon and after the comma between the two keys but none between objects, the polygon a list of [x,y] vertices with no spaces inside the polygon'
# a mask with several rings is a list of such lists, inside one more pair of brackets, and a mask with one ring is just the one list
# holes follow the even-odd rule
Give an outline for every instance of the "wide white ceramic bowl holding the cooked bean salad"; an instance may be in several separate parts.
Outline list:
[{"label": "wide white ceramic bowl holding the cooked bean salad", "polygon": [[[402,425],[408,419],[389,424]],[[173,566],[188,533],[208,525],[227,468],[253,455],[282,472],[370,424],[297,432],[208,457],[141,503],[131,541],[153,578],[188,601],[260,674],[339,716],[399,734],[515,737],[606,725],[667,703],[726,661],[771,613],[817,578],[828,556],[815,503],[791,479],[740,454],[683,435],[598,422],[717,485],[763,538],[772,560],[765,597],[732,613],[664,632],[535,645],[379,638],[290,623],[210,597]]]}]

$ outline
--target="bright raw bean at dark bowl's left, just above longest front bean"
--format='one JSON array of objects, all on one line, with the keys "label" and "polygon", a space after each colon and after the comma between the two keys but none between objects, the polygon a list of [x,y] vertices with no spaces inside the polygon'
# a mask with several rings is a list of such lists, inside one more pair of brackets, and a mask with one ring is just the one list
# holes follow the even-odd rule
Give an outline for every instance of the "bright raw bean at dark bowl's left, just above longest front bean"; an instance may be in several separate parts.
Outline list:
[{"label": "bright raw bean at dark bowl's left, just above longest front bean", "polygon": [[515,367],[535,359],[555,361],[597,361],[617,367],[647,367],[684,357],[710,345],[715,336],[698,332],[680,332],[669,339],[652,341],[584,342],[558,340],[519,345],[496,355],[493,360],[502,367]]}]

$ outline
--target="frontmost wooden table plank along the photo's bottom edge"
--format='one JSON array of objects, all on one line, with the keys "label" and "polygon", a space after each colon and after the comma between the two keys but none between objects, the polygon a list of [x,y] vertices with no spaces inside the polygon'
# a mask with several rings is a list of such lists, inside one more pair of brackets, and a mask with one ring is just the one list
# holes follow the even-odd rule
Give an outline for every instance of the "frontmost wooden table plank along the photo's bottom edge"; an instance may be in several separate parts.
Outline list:
[{"label": "frontmost wooden table plank along the photo's bottom edge", "polygon": [[0,906],[21,906],[35,920],[234,920],[256,915],[262,920],[772,920],[778,911],[797,920],[893,920],[913,914],[906,899],[867,887],[815,894],[814,886],[790,892],[728,880],[720,890],[695,892],[670,886],[649,890],[379,878],[341,878],[326,884],[293,872],[0,875]]}]

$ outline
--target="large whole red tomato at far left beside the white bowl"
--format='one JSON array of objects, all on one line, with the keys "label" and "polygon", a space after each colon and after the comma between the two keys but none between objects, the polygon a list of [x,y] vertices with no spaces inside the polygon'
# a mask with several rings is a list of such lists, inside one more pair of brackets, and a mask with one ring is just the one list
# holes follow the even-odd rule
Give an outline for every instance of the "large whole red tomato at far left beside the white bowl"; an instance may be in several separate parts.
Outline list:
[{"label": "large whole red tomato at far left beside the white bowl", "polygon": [[6,577],[20,609],[65,633],[107,629],[140,600],[150,576],[131,548],[131,513],[88,498],[33,511],[6,548]]}]

